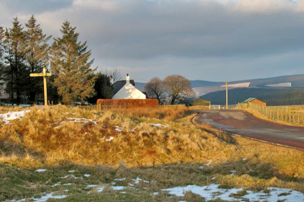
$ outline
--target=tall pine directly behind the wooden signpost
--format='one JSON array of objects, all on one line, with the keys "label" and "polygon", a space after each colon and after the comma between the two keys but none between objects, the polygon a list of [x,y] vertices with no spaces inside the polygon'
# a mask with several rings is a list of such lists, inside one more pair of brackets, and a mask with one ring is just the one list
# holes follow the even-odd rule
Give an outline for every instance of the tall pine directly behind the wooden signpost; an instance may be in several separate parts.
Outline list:
[{"label": "tall pine directly behind the wooden signpost", "polygon": [[[30,73],[39,73],[43,67],[48,66],[49,45],[47,37],[43,34],[40,24],[32,15],[27,23],[26,30],[26,60]],[[39,94],[43,94],[43,83],[39,77],[30,77],[27,87],[27,93],[30,101],[35,101]]]}]

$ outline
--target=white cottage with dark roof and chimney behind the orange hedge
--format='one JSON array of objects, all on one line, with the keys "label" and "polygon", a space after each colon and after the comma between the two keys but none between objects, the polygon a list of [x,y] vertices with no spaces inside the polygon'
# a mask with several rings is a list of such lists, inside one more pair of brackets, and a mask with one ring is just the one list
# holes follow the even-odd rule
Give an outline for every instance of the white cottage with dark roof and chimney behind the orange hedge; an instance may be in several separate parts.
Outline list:
[{"label": "white cottage with dark roof and chimney behind the orange hedge", "polygon": [[134,80],[130,80],[128,74],[126,80],[113,84],[113,90],[112,99],[146,99],[146,95],[135,88]]}]

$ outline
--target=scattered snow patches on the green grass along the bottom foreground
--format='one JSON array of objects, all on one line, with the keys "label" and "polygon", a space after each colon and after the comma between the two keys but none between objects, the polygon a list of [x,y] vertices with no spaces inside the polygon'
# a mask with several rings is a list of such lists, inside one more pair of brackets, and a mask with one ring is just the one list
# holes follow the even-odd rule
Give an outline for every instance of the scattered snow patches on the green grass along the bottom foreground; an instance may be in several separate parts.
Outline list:
[{"label": "scattered snow patches on the green grass along the bottom foreground", "polygon": [[[210,163],[211,160],[208,160],[208,163]],[[46,170],[46,169],[38,169],[38,170]],[[36,170],[37,171],[37,170]],[[72,172],[73,171],[73,172]],[[37,171],[39,172],[39,171]],[[69,173],[74,173],[76,171],[70,170]],[[230,170],[230,173],[235,173],[235,170]],[[86,176],[87,175],[87,176]],[[84,176],[89,177],[89,174],[84,174]],[[77,179],[78,177],[75,177],[74,175],[67,175],[64,177],[61,177],[62,179],[66,179],[68,177],[73,177]],[[80,177],[81,178],[81,177]],[[124,181],[127,180],[126,178],[122,179],[114,179],[115,181]],[[136,184],[140,181],[143,181],[144,183],[150,183],[147,180],[142,180],[140,176],[137,176],[136,179],[131,179],[133,183],[128,183],[128,187],[131,187],[132,189],[136,187]],[[212,178],[212,180],[215,180],[215,177]],[[154,181],[156,182],[156,181]],[[97,185],[97,184],[88,184],[86,185],[86,189],[93,188],[96,189],[98,192],[103,191],[105,186],[110,185],[113,190],[120,191],[120,193],[127,193],[127,187],[125,186],[114,186],[116,182],[112,182],[105,185]],[[51,185],[51,187],[60,186],[60,185],[73,185],[73,183],[64,183],[62,184],[60,181],[57,183]],[[40,185],[40,186],[47,186],[47,185]],[[183,197],[186,192],[191,191],[194,194],[198,194],[201,197],[205,199],[205,201],[217,201],[217,200],[225,200],[225,201],[239,201],[239,202],[278,202],[278,201],[284,201],[284,202],[303,202],[304,201],[304,193],[295,191],[292,189],[286,189],[286,188],[277,188],[277,187],[268,187],[265,191],[259,191],[259,192],[253,192],[251,190],[244,190],[244,188],[231,188],[231,189],[224,189],[219,188],[220,184],[209,184],[208,186],[198,186],[198,185],[187,185],[184,187],[177,186],[172,188],[166,188],[162,189],[162,191],[167,191],[171,195],[176,195],[178,197]],[[30,188],[36,188],[36,185],[31,185]],[[62,188],[60,188],[61,190]],[[144,187],[145,189],[145,187]],[[125,191],[122,191],[125,190]],[[68,189],[65,189],[64,192],[68,193]],[[242,192],[242,193],[239,193]],[[55,192],[51,193],[41,193],[41,198],[29,198],[30,201],[33,202],[45,202],[48,199],[63,199],[68,197],[68,195],[54,195]],[[152,192],[150,195],[158,195],[159,192]],[[25,202],[27,199],[21,199],[21,200],[11,200],[11,202]]]}]

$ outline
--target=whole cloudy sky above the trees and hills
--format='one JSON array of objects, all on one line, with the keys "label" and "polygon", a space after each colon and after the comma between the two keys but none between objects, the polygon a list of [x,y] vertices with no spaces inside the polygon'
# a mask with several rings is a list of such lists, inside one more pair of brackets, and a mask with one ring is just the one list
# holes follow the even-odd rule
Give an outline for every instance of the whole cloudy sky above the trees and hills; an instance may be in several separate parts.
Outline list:
[{"label": "whole cloudy sky above the trees and hills", "polygon": [[304,0],[0,0],[0,13],[7,28],[34,15],[55,38],[70,21],[92,68],[135,82],[304,74]]}]

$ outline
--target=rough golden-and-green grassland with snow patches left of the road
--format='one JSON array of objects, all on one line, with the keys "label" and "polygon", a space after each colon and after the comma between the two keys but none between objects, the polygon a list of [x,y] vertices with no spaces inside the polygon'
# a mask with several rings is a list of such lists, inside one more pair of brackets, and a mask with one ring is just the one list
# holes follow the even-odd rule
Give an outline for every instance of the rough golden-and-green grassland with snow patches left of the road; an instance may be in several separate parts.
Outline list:
[{"label": "rough golden-and-green grassland with snow patches left of the road", "polygon": [[303,151],[208,133],[208,125],[191,124],[195,114],[182,106],[0,108],[0,114],[0,201],[303,197]]}]

